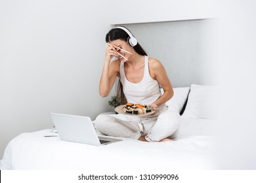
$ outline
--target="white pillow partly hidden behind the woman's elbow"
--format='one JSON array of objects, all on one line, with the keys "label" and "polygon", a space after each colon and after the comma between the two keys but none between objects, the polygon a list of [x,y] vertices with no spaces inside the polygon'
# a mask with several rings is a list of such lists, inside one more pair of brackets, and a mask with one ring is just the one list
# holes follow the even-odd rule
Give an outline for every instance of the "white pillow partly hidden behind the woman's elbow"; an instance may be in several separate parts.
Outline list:
[{"label": "white pillow partly hidden behind the woman's elbow", "polygon": [[[173,97],[165,103],[168,105],[169,110],[175,110],[180,113],[188,97],[189,90],[189,87],[173,88]],[[163,94],[163,88],[160,91]]]}]

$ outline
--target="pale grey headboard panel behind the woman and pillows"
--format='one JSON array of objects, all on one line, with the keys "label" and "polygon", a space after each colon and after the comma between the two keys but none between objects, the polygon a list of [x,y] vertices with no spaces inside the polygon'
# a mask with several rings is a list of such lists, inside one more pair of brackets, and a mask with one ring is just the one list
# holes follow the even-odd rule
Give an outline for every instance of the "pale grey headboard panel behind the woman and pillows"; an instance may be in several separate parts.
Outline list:
[{"label": "pale grey headboard panel behind the woman and pillows", "polygon": [[148,56],[163,63],[173,87],[182,87],[215,84],[214,22],[202,19],[118,26],[127,27]]}]

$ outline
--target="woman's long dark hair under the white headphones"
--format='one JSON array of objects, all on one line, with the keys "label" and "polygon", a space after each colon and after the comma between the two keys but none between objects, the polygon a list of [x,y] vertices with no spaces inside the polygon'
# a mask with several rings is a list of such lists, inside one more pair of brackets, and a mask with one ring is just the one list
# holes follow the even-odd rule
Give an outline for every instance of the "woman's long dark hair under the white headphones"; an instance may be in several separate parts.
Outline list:
[{"label": "woman's long dark hair under the white headphones", "polygon": [[[127,42],[127,40],[129,39],[129,35],[123,29],[119,29],[119,28],[111,29],[106,34],[106,42],[114,41],[117,39],[121,39],[122,41]],[[145,50],[140,46],[139,43],[137,43],[136,46],[133,46],[133,49],[135,50],[135,52],[137,52],[137,54],[140,54],[142,56],[147,56]],[[121,84],[120,80],[118,81],[118,86],[117,86],[117,97],[121,99],[121,105],[124,105],[125,103],[127,103],[125,95],[123,93],[123,85]]]}]

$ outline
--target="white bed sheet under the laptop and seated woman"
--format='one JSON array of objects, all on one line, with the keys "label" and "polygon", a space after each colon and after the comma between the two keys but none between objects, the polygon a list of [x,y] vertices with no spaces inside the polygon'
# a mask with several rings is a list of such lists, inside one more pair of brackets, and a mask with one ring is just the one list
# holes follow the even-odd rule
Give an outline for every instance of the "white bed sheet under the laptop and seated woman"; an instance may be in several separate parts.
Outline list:
[{"label": "white bed sheet under the laptop and seated woman", "polygon": [[214,120],[182,118],[172,142],[125,139],[105,146],[61,141],[51,129],[22,133],[7,145],[0,169],[215,169]]}]

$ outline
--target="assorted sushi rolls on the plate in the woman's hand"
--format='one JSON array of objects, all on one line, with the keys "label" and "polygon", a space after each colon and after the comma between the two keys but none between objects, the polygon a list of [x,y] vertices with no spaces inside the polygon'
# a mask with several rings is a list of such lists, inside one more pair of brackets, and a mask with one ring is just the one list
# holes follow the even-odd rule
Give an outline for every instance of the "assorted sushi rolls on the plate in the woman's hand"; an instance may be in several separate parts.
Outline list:
[{"label": "assorted sushi rolls on the plate in the woman's hand", "polygon": [[148,112],[152,112],[152,108],[147,105],[127,103],[123,106],[121,112],[127,114],[146,114]]}]

